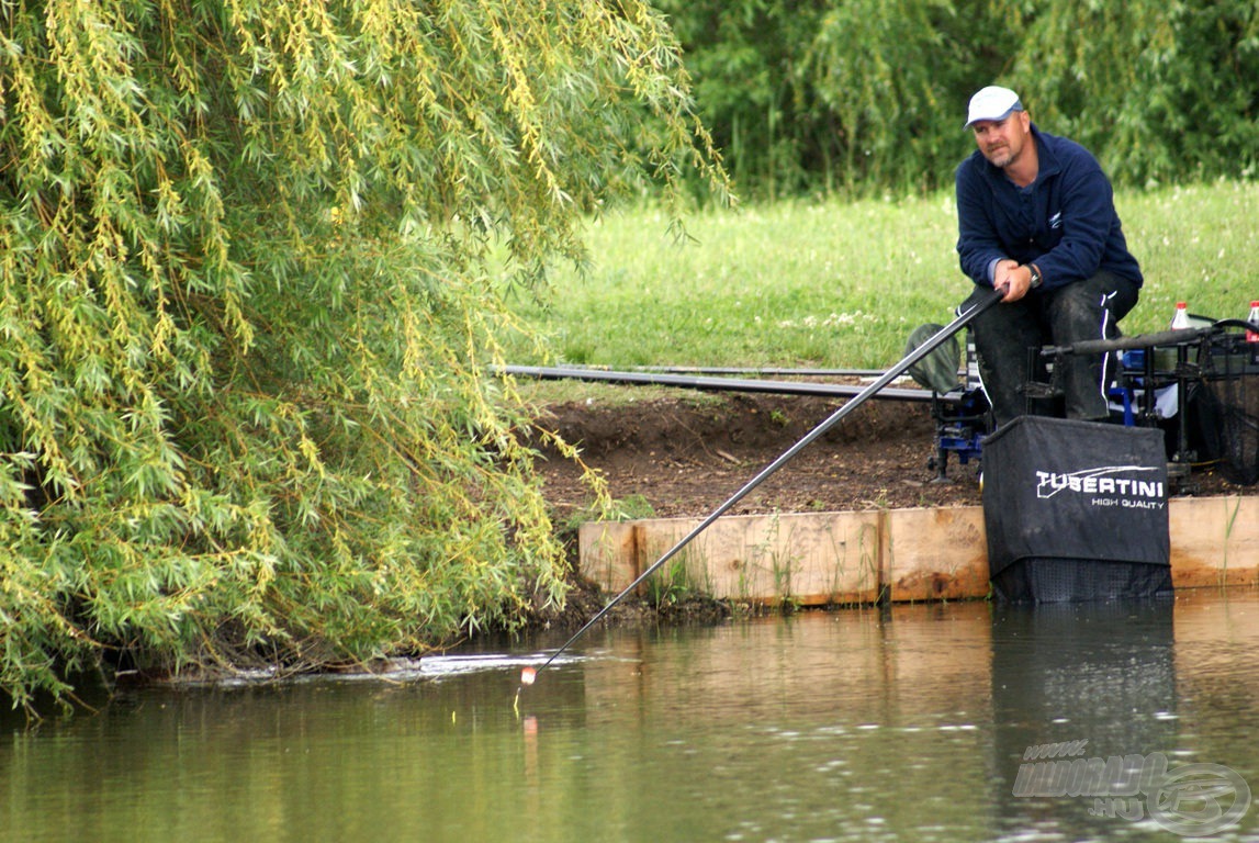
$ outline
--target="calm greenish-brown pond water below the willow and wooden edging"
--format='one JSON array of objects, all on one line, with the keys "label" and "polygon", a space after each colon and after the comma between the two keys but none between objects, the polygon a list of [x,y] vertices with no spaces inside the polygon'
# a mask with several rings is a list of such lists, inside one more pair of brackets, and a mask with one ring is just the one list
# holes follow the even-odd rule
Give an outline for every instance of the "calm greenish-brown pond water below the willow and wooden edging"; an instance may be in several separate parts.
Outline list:
[{"label": "calm greenish-brown pond water below the willow and wooden edging", "polygon": [[1069,741],[1259,785],[1254,593],[603,629],[514,705],[563,638],[13,730],[0,839],[1183,839],[1015,795],[1027,747]]}]

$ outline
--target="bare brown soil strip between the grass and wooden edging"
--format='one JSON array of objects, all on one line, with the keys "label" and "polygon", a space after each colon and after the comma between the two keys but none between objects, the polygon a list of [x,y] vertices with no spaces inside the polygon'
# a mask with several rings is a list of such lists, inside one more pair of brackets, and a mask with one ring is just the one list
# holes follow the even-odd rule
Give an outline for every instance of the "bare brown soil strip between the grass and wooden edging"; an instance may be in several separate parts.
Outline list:
[{"label": "bare brown soil strip between the grass and wooden edging", "polygon": [[[579,444],[582,459],[613,498],[645,502],[643,516],[705,516],[831,415],[842,400],[721,394],[652,396],[548,406],[539,423]],[[935,453],[928,403],[874,399],[765,479],[730,515],[981,503],[978,461],[951,455],[947,482],[928,466]],[[538,468],[558,523],[592,503],[580,468],[543,452]],[[1195,468],[1197,494],[1250,494],[1214,467]]]}]

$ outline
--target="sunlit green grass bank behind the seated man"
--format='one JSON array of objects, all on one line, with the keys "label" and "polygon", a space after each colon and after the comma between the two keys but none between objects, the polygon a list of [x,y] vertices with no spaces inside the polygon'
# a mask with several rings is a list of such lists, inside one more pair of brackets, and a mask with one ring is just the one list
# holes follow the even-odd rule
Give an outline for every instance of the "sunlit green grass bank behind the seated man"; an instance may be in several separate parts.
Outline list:
[{"label": "sunlit green grass bank behind the seated man", "polygon": [[[1166,327],[1176,301],[1244,318],[1259,298],[1259,184],[1117,195],[1146,287],[1126,333]],[[521,343],[510,362],[881,369],[909,332],[948,322],[969,292],[952,194],[900,201],[784,201],[704,211],[675,239],[663,211],[592,223],[593,267],[554,274],[521,317],[554,357]]]}]

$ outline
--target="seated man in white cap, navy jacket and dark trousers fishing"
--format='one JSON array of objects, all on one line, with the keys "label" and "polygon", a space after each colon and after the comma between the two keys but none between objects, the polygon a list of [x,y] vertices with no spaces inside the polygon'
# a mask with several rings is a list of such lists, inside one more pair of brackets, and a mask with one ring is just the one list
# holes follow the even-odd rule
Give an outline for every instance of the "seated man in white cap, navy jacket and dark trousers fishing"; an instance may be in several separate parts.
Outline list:
[{"label": "seated man in white cap, navy jacket and dark trousers fishing", "polygon": [[[963,308],[992,288],[1006,291],[972,323],[983,391],[1001,425],[1026,411],[1030,350],[1118,336],[1142,276],[1110,181],[1088,150],[1040,131],[1019,94],[997,86],[971,98],[966,127],[978,148],[957,169],[957,250],[976,283]],[[1105,355],[1058,360],[1066,418],[1109,416],[1107,362]]]}]

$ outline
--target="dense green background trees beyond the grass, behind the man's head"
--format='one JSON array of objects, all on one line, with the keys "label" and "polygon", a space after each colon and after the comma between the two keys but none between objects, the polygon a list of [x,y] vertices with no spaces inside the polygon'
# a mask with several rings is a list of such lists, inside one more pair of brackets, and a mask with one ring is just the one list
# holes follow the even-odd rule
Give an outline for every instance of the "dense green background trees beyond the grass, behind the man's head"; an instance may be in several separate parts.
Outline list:
[{"label": "dense green background trees beyond the grass, behind the man's head", "polygon": [[1254,0],[656,0],[744,194],[952,189],[1013,87],[1117,182],[1254,179]]}]

